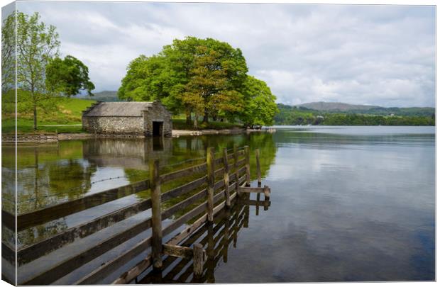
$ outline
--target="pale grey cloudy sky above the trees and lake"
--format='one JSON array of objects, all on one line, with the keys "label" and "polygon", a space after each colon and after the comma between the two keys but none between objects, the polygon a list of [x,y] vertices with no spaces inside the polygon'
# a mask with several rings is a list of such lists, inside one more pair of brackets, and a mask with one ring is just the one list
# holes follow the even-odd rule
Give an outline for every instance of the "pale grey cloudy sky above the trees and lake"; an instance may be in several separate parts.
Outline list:
[{"label": "pale grey cloudy sky above the trees and lake", "polygon": [[128,62],[187,35],[239,47],[277,102],[434,106],[434,6],[19,1],[57,27],[62,55],[116,90]]}]

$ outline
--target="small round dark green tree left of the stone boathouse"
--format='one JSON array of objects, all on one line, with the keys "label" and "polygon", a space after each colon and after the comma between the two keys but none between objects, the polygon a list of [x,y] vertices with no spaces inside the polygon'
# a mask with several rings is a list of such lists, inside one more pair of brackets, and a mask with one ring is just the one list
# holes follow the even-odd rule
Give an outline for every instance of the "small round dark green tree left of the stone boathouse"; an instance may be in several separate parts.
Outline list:
[{"label": "small round dark green tree left of the stone boathouse", "polygon": [[93,96],[94,84],[89,79],[89,69],[77,58],[67,55],[49,59],[46,66],[46,86],[48,91],[64,96],[74,96],[80,90]]}]

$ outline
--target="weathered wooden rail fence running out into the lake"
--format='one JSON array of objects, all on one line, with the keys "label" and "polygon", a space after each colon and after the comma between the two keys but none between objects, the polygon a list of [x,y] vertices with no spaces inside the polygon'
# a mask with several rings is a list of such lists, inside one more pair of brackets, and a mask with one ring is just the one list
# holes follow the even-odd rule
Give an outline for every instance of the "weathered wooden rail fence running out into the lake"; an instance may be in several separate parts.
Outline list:
[{"label": "weathered wooden rail fence running out into the lake", "polygon": [[[128,227],[126,230],[116,232],[116,234],[110,237],[101,239],[97,244],[88,247],[84,251],[79,252],[79,254],[71,254],[51,266],[48,264],[44,271],[32,274],[28,276],[28,278],[20,278],[20,276],[18,276],[18,284],[46,285],[53,283],[150,228],[150,237],[144,238],[133,247],[121,252],[121,254],[117,255],[114,259],[111,259],[111,261],[106,261],[98,269],[91,271],[89,274],[85,274],[85,276],[80,278],[75,284],[99,283],[109,274],[114,273],[116,270],[119,270],[121,266],[131,261],[133,257],[145,252],[149,247],[151,247],[150,254],[145,259],[139,261],[138,264],[128,269],[128,271],[123,273],[113,283],[129,283],[150,266],[154,266],[155,269],[160,269],[164,264],[162,261],[164,255],[194,259],[194,271],[202,276],[204,262],[206,261],[206,251],[199,244],[194,244],[192,249],[177,244],[187,239],[192,232],[198,230],[204,223],[212,223],[214,221],[214,215],[223,210],[225,206],[226,209],[230,208],[231,201],[233,201],[239,193],[264,192],[265,199],[268,199],[270,190],[267,186],[258,190],[256,190],[256,188],[254,190],[252,188],[246,188],[246,186],[250,185],[251,181],[249,157],[249,148],[247,146],[243,149],[238,149],[238,147],[234,146],[233,153],[231,154],[229,154],[225,148],[219,158],[214,157],[213,148],[208,148],[207,160],[203,164],[166,174],[160,174],[159,162],[155,160],[150,162],[149,179],[94,193],[74,201],[35,210],[31,213],[18,215],[16,218],[16,226],[17,230],[21,231],[43,223],[48,223],[57,218],[78,213],[82,210],[87,210],[88,208],[115,201],[124,196],[130,196],[140,191],[147,189],[151,191],[151,196],[148,199],[133,203],[130,206],[124,206],[111,213],[101,215],[99,218],[94,218],[87,223],[70,227],[57,235],[18,249],[17,261],[18,266],[20,266],[18,274],[20,274],[20,269],[26,268],[26,264],[50,254],[50,252],[54,252],[75,240],[92,235],[122,220],[131,218],[133,215],[151,209],[151,216],[149,218],[141,220],[140,223]],[[217,168],[217,166],[221,167]],[[259,169],[259,152],[257,152],[257,167]],[[206,174],[203,175],[204,173]],[[182,180],[188,176],[192,176],[191,178],[193,178],[197,176],[197,174],[201,175],[197,179],[168,191],[162,191],[164,184]],[[257,174],[258,183],[260,184],[259,170]],[[216,181],[216,179],[220,180]],[[258,198],[259,195],[260,193],[258,193]],[[169,208],[162,208],[163,203],[173,198],[180,198],[181,196],[185,198]],[[189,211],[180,215],[186,210]],[[5,214],[3,212],[2,215],[4,215],[3,218],[6,216],[6,218],[13,219],[13,215],[11,214]],[[163,220],[169,218],[173,218],[173,220],[170,224],[163,227]],[[172,235],[172,233],[177,232],[177,229],[182,227],[182,225],[196,218],[197,220],[195,220],[192,225],[185,228],[182,232],[179,232],[166,243],[163,243],[163,237]],[[11,230],[15,230],[14,220],[2,221],[4,225]],[[2,244],[2,251],[11,255],[11,258],[14,257],[13,250],[6,246],[6,244]]]}]

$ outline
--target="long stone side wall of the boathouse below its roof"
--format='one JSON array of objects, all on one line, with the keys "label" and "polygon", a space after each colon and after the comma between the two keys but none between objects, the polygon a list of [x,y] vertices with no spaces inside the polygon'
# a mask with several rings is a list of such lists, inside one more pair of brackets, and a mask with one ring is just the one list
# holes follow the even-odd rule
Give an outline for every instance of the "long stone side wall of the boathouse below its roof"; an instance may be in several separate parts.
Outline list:
[{"label": "long stone side wall of the boathouse below its roof", "polygon": [[94,117],[82,118],[82,129],[89,133],[143,135],[143,117]]}]

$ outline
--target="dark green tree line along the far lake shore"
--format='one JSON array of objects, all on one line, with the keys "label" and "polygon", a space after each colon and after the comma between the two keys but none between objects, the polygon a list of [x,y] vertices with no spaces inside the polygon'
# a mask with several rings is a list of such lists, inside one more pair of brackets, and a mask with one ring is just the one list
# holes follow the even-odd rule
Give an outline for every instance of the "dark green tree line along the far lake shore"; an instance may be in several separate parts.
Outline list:
[{"label": "dark green tree line along the far lake shore", "polygon": [[278,104],[276,125],[435,125],[430,116],[381,116],[360,113],[329,113],[304,107]]}]

